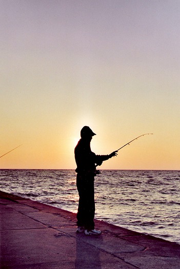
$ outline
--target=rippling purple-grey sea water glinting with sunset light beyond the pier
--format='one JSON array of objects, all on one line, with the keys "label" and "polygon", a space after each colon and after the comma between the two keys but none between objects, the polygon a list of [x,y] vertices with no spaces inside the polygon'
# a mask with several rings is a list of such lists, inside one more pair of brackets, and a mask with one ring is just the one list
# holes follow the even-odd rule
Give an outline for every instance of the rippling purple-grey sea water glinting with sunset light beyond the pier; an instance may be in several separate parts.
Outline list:
[{"label": "rippling purple-grey sea water glinting with sunset light beyond the pier", "polygon": [[[77,212],[74,170],[0,170],[1,190]],[[102,170],[95,218],[180,243],[180,171]]]}]

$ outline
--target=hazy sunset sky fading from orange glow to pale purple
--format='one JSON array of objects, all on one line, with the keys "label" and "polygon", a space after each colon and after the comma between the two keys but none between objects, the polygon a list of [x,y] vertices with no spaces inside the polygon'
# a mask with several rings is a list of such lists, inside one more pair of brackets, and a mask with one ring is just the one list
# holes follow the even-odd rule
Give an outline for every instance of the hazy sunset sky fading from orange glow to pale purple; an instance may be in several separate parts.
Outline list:
[{"label": "hazy sunset sky fading from orange glow to pale purple", "polygon": [[180,170],[179,0],[0,0],[0,169]]}]

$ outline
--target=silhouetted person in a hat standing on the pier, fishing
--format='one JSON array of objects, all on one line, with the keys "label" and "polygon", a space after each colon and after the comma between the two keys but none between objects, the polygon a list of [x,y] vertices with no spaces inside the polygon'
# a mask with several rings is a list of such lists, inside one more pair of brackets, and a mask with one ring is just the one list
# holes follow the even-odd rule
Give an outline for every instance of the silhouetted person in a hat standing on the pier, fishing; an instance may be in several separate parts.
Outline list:
[{"label": "silhouetted person in a hat standing on the pier, fishing", "polygon": [[88,127],[81,130],[81,139],[74,149],[75,161],[77,164],[76,185],[79,194],[77,211],[77,231],[85,232],[86,235],[101,234],[101,231],[94,229],[94,176],[96,176],[96,165],[101,165],[103,161],[116,156],[116,151],[109,155],[96,155],[91,151],[90,142],[95,134]]}]

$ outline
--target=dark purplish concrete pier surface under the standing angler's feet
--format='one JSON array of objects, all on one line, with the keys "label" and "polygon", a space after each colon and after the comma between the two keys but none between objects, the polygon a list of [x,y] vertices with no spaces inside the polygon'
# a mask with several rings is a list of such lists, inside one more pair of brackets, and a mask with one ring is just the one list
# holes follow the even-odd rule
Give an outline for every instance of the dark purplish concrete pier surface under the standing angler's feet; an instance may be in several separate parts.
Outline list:
[{"label": "dark purplish concrete pier surface under the standing angler's feet", "polygon": [[180,244],[95,220],[100,236],[76,233],[76,214],[0,192],[1,267],[179,269]]}]

